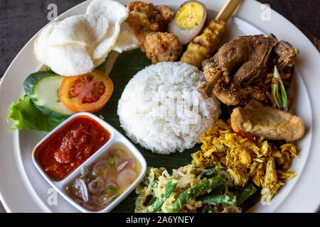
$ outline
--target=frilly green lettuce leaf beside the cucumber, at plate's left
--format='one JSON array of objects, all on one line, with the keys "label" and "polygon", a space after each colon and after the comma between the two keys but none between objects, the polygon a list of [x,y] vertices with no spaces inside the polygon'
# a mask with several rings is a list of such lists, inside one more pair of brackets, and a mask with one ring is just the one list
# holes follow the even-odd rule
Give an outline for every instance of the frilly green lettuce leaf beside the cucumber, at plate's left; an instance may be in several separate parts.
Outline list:
[{"label": "frilly green lettuce leaf beside the cucumber, at plate's left", "polygon": [[11,113],[7,121],[18,121],[11,129],[19,130],[29,128],[38,131],[50,132],[53,128],[57,127],[65,119],[57,119],[43,114],[27,95],[23,99],[18,99],[18,102],[11,104]]}]

